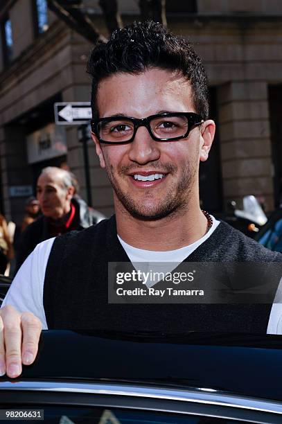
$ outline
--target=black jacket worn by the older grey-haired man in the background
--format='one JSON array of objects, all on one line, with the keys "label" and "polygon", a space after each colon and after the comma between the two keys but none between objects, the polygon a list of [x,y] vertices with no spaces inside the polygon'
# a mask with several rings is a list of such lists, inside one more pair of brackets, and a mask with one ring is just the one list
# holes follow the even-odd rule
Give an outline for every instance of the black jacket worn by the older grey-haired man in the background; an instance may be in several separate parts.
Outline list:
[{"label": "black jacket worn by the older grey-haired man in the background", "polygon": [[[92,224],[98,224],[105,216],[96,211],[95,209],[89,208],[84,200],[73,198],[71,203],[76,208],[76,215],[73,218],[73,223],[69,231],[82,230],[90,227]],[[28,225],[24,232],[21,234],[19,240],[19,247],[17,249],[17,265],[16,270],[19,270],[21,264],[28,255],[35,249],[38,243],[51,238],[49,233],[49,221],[44,215],[41,215],[32,224]]]}]

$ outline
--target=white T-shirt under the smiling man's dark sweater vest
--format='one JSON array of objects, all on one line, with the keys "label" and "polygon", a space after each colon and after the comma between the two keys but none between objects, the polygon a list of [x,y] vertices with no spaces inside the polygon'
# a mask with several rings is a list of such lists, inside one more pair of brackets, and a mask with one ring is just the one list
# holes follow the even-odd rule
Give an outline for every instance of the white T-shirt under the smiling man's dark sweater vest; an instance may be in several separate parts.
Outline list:
[{"label": "white T-shirt under the smiling man's dark sweater vest", "polygon": [[[212,227],[202,238],[200,238],[200,240],[186,247],[171,251],[137,249],[136,247],[127,245],[119,236],[118,240],[120,240],[123,249],[125,249],[133,265],[134,263],[138,263],[140,267],[140,263],[144,262],[150,264],[150,267],[154,267],[154,263],[168,262],[177,266],[177,264],[181,263],[197,249],[202,242],[211,236],[219,223],[219,221],[213,218]],[[2,304],[2,306],[12,305],[19,310],[19,312],[24,312],[26,310],[33,312],[42,322],[42,328],[44,330],[47,330],[48,326],[43,306],[43,288],[46,265],[54,240],[55,238],[50,238],[49,240],[39,243],[28,258],[26,258],[17,272]],[[170,267],[167,272],[171,270],[172,268]],[[279,285],[277,293],[282,293],[282,283]],[[276,299],[280,299],[279,296],[279,294],[276,294]],[[282,334],[282,296],[281,303],[274,303],[272,306],[267,333]]]}]

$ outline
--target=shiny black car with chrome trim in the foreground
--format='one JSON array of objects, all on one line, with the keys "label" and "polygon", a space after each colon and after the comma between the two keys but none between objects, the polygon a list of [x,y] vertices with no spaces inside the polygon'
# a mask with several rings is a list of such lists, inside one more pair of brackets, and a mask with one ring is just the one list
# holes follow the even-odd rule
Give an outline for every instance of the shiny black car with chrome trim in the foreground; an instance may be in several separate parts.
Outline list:
[{"label": "shiny black car with chrome trim in the foreground", "polygon": [[35,364],[0,379],[0,418],[281,423],[281,348],[272,335],[44,331]]}]

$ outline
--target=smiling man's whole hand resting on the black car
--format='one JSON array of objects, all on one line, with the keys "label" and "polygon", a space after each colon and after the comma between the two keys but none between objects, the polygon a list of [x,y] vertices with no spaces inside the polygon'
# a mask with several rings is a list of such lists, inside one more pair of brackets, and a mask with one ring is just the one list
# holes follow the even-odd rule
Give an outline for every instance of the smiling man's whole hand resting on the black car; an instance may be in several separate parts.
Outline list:
[{"label": "smiling man's whole hand resting on the black car", "polygon": [[30,365],[38,351],[42,324],[31,312],[18,312],[12,306],[0,309],[0,376],[21,374],[21,364]]}]

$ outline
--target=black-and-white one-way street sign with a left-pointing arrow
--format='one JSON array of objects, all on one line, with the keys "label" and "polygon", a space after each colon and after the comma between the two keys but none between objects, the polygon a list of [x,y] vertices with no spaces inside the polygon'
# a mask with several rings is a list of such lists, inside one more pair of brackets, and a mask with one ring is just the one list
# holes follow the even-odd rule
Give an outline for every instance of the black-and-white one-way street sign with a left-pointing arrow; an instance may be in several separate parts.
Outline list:
[{"label": "black-and-white one-way street sign with a left-pointing arrow", "polygon": [[55,103],[54,112],[57,125],[80,125],[92,118],[90,102]]}]

